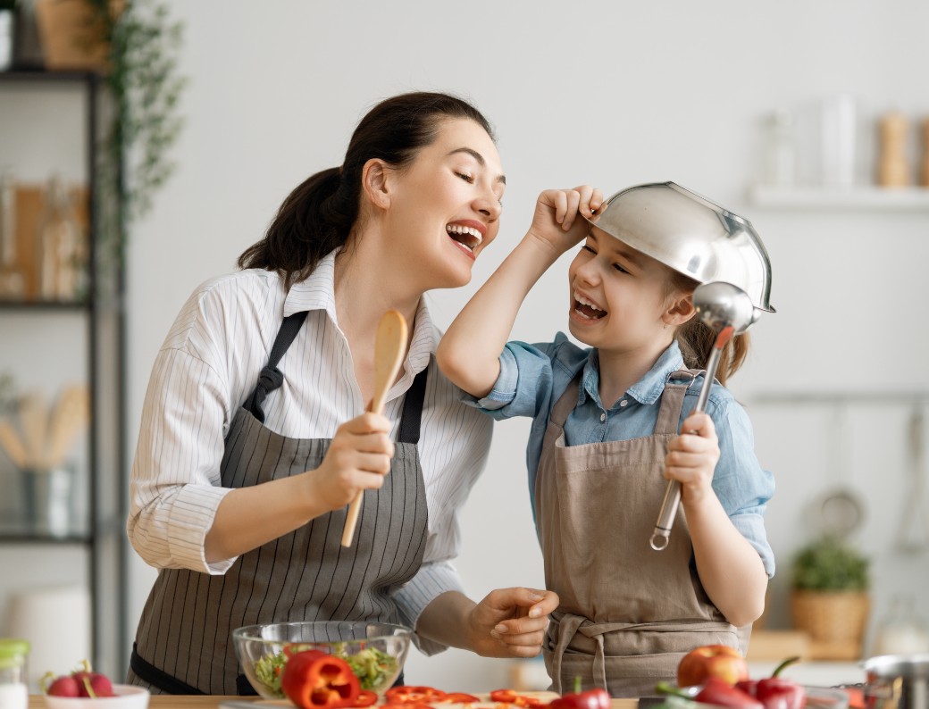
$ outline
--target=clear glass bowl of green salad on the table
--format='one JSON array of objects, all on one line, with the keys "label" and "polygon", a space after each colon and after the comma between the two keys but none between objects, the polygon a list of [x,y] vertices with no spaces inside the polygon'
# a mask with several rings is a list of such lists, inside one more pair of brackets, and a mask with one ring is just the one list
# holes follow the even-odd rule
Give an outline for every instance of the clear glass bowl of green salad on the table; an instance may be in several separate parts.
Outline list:
[{"label": "clear glass bowl of green salad on the table", "polygon": [[412,630],[404,625],[330,621],[246,625],[232,631],[242,671],[265,699],[283,699],[281,674],[288,655],[321,650],[345,660],[361,689],[383,696],[403,669]]}]

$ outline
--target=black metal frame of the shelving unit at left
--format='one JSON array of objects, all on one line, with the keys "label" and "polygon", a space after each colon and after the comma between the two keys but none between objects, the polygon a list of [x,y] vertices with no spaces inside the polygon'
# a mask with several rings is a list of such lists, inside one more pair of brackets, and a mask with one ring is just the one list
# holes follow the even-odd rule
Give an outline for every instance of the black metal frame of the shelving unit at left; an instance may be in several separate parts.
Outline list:
[{"label": "black metal frame of the shelving unit at left", "polygon": [[[0,519],[0,545],[15,548],[74,547],[86,555],[87,584],[91,597],[91,652],[95,666],[111,676],[124,676],[128,660],[126,618],[127,540],[124,520],[127,513],[128,480],[124,479],[125,444],[125,327],[122,262],[103,263],[100,257],[102,235],[98,210],[101,198],[111,204],[122,203],[122,195],[98,193],[98,150],[106,130],[103,122],[107,77],[97,72],[47,72],[14,70],[0,72],[0,90],[6,95],[16,89],[16,100],[32,100],[33,91],[20,86],[48,90],[79,89],[84,109],[74,113],[74,120],[85,123],[85,179],[88,201],[88,271],[87,294],[71,300],[0,299],[2,338],[16,336],[16,320],[34,317],[54,322],[52,316],[64,315],[85,320],[81,344],[86,351],[86,380],[91,391],[90,427],[86,446],[86,519],[62,536],[37,533],[19,517]],[[67,120],[67,117],[65,117]],[[4,132],[16,130],[4,125]],[[52,166],[54,167],[54,166]],[[120,217],[121,218],[121,217]],[[109,287],[104,287],[109,283]],[[46,320],[47,319],[47,320]],[[67,339],[63,341],[72,343]],[[14,373],[15,374],[15,373]],[[101,657],[111,663],[100,663]]]}]

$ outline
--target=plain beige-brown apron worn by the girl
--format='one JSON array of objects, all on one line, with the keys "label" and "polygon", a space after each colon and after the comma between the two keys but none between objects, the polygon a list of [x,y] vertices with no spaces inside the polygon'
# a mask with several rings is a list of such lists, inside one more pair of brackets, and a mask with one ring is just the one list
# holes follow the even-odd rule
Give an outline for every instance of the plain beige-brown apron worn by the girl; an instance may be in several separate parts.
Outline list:
[{"label": "plain beige-brown apron worn by the girl", "polygon": [[684,515],[666,549],[648,544],[667,486],[667,445],[696,374],[671,374],[652,436],[566,446],[581,374],[552,410],[535,504],[545,584],[561,599],[543,648],[557,692],[580,676],[582,689],[613,697],[654,695],[659,680],[674,682],[687,651],[747,648],[751,626],[727,623],[700,584]]}]

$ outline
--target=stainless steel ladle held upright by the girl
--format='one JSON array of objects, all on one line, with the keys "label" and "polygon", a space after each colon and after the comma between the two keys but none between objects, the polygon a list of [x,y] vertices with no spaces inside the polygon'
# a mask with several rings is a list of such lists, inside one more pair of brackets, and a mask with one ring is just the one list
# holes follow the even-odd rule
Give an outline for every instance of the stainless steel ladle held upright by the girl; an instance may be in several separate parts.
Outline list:
[{"label": "stainless steel ladle held upright by the girl", "polygon": [[[726,343],[734,335],[745,332],[752,324],[755,308],[747,293],[731,283],[715,282],[705,283],[694,289],[694,307],[698,317],[707,326],[716,331],[716,341],[710,361],[706,365],[703,375],[703,386],[697,397],[694,413],[698,414],[706,408],[706,401],[710,397],[710,387],[713,386],[713,377],[719,366],[719,357],[726,347]],[[681,484],[677,480],[668,480],[668,487],[661,501],[661,511],[658,521],[649,541],[651,548],[661,551],[668,545],[668,537],[677,515],[677,506],[681,502]]]}]

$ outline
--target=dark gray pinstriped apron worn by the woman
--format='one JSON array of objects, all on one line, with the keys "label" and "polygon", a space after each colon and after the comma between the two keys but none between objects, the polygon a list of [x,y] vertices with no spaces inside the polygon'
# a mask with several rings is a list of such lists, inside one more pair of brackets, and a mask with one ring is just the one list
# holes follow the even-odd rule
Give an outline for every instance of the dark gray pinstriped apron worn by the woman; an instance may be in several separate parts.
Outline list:
[{"label": "dark gray pinstriped apron worn by the woman", "polygon": [[[280,436],[264,426],[261,401],[280,387],[277,369],[306,317],[284,320],[255,392],[236,414],[220,468],[224,487],[242,488],[319,467],[329,439]],[[231,632],[292,621],[399,623],[391,594],[423,561],[426,502],[416,443],[426,371],[403,402],[396,453],[380,490],[363,497],[355,536],[343,547],[347,508],[334,510],[242,554],[223,575],[163,569],[138,624],[127,681],[155,693],[254,693]]]}]

